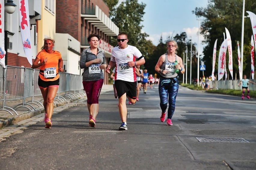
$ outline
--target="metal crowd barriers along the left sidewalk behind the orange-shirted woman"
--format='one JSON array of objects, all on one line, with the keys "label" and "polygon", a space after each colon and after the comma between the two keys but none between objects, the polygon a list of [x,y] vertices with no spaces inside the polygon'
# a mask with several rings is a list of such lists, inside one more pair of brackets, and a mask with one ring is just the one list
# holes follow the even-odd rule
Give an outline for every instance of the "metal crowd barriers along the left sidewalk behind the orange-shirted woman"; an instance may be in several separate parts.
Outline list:
[{"label": "metal crowd barriers along the left sidewalk behind the orange-shirted woman", "polygon": [[[0,66],[0,102],[3,105],[0,110],[5,110],[11,115],[20,107],[27,110],[35,110],[35,107],[43,107],[43,99],[35,100],[35,96],[42,96],[38,87],[38,69],[24,67],[6,66],[4,69]],[[53,103],[66,101],[66,98],[85,96],[82,84],[82,75],[73,75],[69,73],[59,73],[59,88]],[[66,98],[65,98],[66,97]],[[31,98],[31,100],[26,101]],[[14,107],[6,106],[6,101],[22,101]],[[11,112],[12,111],[12,112]]]}]

